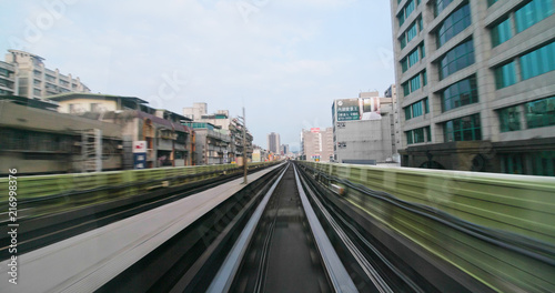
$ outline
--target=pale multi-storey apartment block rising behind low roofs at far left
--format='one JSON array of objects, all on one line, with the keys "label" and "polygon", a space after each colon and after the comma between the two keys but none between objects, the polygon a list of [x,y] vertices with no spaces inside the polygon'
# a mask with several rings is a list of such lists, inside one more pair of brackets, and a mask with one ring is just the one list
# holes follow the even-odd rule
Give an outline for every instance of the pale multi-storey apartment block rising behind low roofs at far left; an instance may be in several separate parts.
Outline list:
[{"label": "pale multi-storey apartment block rising behind low roofs at far left", "polygon": [[[13,68],[13,70],[7,69],[8,72],[11,72],[9,74],[13,74],[13,83],[8,84],[17,85],[11,87],[12,91],[8,91],[7,94],[43,99],[67,92],[90,92],[90,89],[81,83],[79,78],[74,79],[71,74],[61,74],[58,69],[50,70],[44,67],[43,60],[39,55],[24,51],[8,50],[6,63]],[[6,65],[0,64],[0,68],[6,69]]]}]

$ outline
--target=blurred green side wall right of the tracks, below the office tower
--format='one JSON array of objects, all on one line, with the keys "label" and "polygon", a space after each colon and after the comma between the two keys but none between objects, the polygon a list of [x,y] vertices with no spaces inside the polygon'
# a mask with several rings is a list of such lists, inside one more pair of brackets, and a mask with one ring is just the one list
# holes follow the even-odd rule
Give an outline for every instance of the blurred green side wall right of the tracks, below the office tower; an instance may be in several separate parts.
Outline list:
[{"label": "blurred green side wall right of the tracks, below the office tower", "polygon": [[[555,179],[334,163],[300,164],[326,185],[344,185],[345,200],[492,289],[555,292]],[[427,210],[432,216],[370,196],[341,181],[385,192]],[[434,213],[484,228],[492,235],[476,238],[452,229],[433,220]],[[484,238],[514,239],[516,250],[506,249],[506,243],[484,241]]]}]

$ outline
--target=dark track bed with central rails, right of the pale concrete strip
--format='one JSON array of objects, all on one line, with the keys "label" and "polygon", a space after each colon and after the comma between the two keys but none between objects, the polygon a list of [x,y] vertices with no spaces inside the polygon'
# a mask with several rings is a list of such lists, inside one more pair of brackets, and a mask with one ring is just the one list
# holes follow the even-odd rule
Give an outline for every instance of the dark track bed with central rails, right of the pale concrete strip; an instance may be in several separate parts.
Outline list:
[{"label": "dark track bed with central rails, right of the pale concrete strip", "polygon": [[[404,280],[407,284],[400,286],[390,282],[403,277],[382,276],[391,271],[382,267],[383,263],[367,260],[367,251],[353,243],[360,240],[351,240],[352,232],[345,232],[343,224],[339,224],[345,220],[326,210],[305,176],[293,163],[278,169],[98,292],[397,292],[400,287],[403,292],[425,292],[430,289],[408,277]],[[208,226],[219,228],[203,233]],[[404,276],[398,270],[396,273]]]}]

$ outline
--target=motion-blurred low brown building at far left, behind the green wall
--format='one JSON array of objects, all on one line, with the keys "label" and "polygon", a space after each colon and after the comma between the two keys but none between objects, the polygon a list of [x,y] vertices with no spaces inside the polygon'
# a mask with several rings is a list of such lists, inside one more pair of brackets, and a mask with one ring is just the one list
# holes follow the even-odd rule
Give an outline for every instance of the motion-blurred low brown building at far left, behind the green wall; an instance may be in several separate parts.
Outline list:
[{"label": "motion-blurred low brown building at far left, behind the green wall", "polygon": [[0,173],[71,173],[121,170],[120,125],[59,113],[49,101],[0,97]]}]

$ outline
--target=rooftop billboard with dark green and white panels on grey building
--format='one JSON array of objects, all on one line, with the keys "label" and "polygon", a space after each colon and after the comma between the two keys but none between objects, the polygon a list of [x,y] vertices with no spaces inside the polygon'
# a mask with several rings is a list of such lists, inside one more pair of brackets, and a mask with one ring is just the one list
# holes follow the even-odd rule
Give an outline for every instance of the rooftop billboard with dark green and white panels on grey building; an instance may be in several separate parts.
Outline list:
[{"label": "rooftop billboard with dark green and white panels on grey building", "polygon": [[381,120],[380,98],[357,98],[335,101],[337,121]]}]

